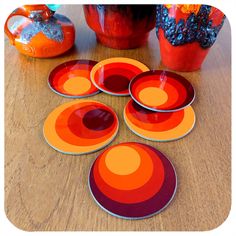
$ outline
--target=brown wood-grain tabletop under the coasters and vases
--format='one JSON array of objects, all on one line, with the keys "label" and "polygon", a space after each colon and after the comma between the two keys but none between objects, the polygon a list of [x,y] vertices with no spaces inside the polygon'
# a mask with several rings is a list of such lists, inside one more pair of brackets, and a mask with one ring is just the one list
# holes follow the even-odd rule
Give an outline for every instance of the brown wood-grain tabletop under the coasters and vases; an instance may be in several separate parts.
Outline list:
[{"label": "brown wood-grain tabletop under the coasters and vases", "polygon": [[209,230],[228,216],[231,205],[231,42],[225,22],[202,69],[184,75],[196,89],[194,130],[185,138],[158,143],[137,137],[124,124],[122,111],[129,97],[101,93],[92,97],[112,106],[120,130],[112,144],[138,141],[153,145],[173,162],[178,189],[161,214],[145,220],[123,220],[101,210],[87,186],[89,168],[100,152],[67,156],[54,151],[43,137],[43,123],[58,105],[70,99],[53,93],[49,72],[71,59],[102,60],[125,56],[153,69],[160,62],[155,31],[148,45],[135,50],[113,50],[96,43],[81,6],[60,12],[76,25],[76,46],[54,59],[20,55],[5,40],[5,210],[9,220],[24,230]]}]

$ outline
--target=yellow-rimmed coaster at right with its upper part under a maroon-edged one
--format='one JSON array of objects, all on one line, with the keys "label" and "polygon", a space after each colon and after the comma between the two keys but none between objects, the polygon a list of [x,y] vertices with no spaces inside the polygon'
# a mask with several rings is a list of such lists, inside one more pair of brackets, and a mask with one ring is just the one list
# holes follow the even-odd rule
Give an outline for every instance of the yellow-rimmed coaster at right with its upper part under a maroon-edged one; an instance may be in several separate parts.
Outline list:
[{"label": "yellow-rimmed coaster at right with its upper part under a maroon-edged one", "polygon": [[195,113],[191,106],[176,112],[155,112],[130,100],[124,108],[124,120],[129,129],[142,138],[172,141],[190,133]]}]

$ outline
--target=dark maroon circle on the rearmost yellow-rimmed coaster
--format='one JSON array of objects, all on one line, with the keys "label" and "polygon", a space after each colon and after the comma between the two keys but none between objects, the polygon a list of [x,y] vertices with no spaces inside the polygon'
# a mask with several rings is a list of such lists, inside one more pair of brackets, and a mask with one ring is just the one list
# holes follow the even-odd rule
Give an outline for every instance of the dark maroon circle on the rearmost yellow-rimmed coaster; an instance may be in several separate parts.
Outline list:
[{"label": "dark maroon circle on the rearmost yellow-rimmed coaster", "polygon": [[129,82],[123,75],[110,75],[105,78],[104,86],[112,92],[121,92],[128,89]]}]

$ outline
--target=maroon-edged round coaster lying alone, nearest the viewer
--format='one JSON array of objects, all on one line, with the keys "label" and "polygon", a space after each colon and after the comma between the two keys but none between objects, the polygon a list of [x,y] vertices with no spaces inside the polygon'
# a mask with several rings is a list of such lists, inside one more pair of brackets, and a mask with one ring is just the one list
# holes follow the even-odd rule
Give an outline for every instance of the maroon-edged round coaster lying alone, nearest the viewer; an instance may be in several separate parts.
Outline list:
[{"label": "maroon-edged round coaster lying alone, nearest the viewer", "polygon": [[173,199],[177,178],[173,165],[157,149],[142,143],[120,143],[93,163],[89,188],[108,213],[142,219],[162,211]]}]

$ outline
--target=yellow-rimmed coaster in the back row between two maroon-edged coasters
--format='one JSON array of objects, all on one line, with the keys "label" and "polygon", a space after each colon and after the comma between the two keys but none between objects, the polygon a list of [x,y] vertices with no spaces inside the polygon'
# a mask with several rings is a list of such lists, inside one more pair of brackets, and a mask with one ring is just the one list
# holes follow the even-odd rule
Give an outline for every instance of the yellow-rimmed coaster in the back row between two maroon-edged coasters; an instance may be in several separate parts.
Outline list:
[{"label": "yellow-rimmed coaster in the back row between two maroon-edged coasters", "polygon": [[91,81],[100,90],[115,96],[129,95],[133,77],[149,68],[143,63],[125,57],[109,58],[97,63],[91,71]]}]

